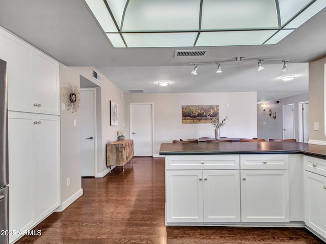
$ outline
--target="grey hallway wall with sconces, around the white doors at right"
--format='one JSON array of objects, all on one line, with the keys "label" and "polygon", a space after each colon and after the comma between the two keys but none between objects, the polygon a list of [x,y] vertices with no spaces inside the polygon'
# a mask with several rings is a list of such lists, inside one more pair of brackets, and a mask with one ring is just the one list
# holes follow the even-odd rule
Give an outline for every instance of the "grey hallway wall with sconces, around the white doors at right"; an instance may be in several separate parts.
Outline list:
[{"label": "grey hallway wall with sconces, around the white doors at right", "polygon": [[[283,105],[294,104],[294,131],[295,138],[298,140],[298,103],[308,100],[308,93],[292,96],[288,98],[278,99],[279,104],[274,101],[257,104],[257,134],[259,139],[283,139]],[[265,105],[265,111],[262,105]],[[310,104],[309,104],[310,107]],[[271,109],[271,116],[268,111]],[[273,119],[273,112],[276,112],[276,119]]]}]

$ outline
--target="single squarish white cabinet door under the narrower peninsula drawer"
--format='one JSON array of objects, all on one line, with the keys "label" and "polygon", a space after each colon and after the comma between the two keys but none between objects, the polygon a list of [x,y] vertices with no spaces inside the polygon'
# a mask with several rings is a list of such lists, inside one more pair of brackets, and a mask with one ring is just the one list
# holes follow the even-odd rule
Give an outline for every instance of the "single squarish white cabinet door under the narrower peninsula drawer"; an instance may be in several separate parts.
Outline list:
[{"label": "single squarish white cabinet door under the narrower peninsula drawer", "polygon": [[241,170],[241,221],[289,222],[287,170]]}]

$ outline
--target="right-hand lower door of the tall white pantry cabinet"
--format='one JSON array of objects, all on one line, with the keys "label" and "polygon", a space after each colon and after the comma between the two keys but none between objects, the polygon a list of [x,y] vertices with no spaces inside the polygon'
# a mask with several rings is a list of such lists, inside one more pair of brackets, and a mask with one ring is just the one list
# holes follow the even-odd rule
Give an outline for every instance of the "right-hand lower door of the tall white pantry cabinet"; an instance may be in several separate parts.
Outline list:
[{"label": "right-hand lower door of the tall white pantry cabinet", "polygon": [[37,221],[47,217],[60,205],[60,137],[59,116],[39,114],[34,150],[37,159]]}]

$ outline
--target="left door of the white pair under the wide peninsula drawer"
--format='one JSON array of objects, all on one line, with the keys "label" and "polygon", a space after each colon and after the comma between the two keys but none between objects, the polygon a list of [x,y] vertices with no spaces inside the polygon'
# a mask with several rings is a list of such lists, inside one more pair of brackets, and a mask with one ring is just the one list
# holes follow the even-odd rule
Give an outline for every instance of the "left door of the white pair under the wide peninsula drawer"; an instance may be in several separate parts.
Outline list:
[{"label": "left door of the white pair under the wide peninsula drawer", "polygon": [[201,170],[166,171],[166,222],[203,222]]}]

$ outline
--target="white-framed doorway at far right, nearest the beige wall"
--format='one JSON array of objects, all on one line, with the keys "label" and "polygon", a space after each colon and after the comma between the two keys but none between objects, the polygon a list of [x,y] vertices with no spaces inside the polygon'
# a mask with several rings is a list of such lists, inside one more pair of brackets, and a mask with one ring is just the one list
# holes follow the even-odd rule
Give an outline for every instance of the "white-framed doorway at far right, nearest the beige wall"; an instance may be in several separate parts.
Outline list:
[{"label": "white-framed doorway at far right, nearest the beige wall", "polygon": [[298,103],[298,141],[308,143],[309,141],[309,102]]}]

